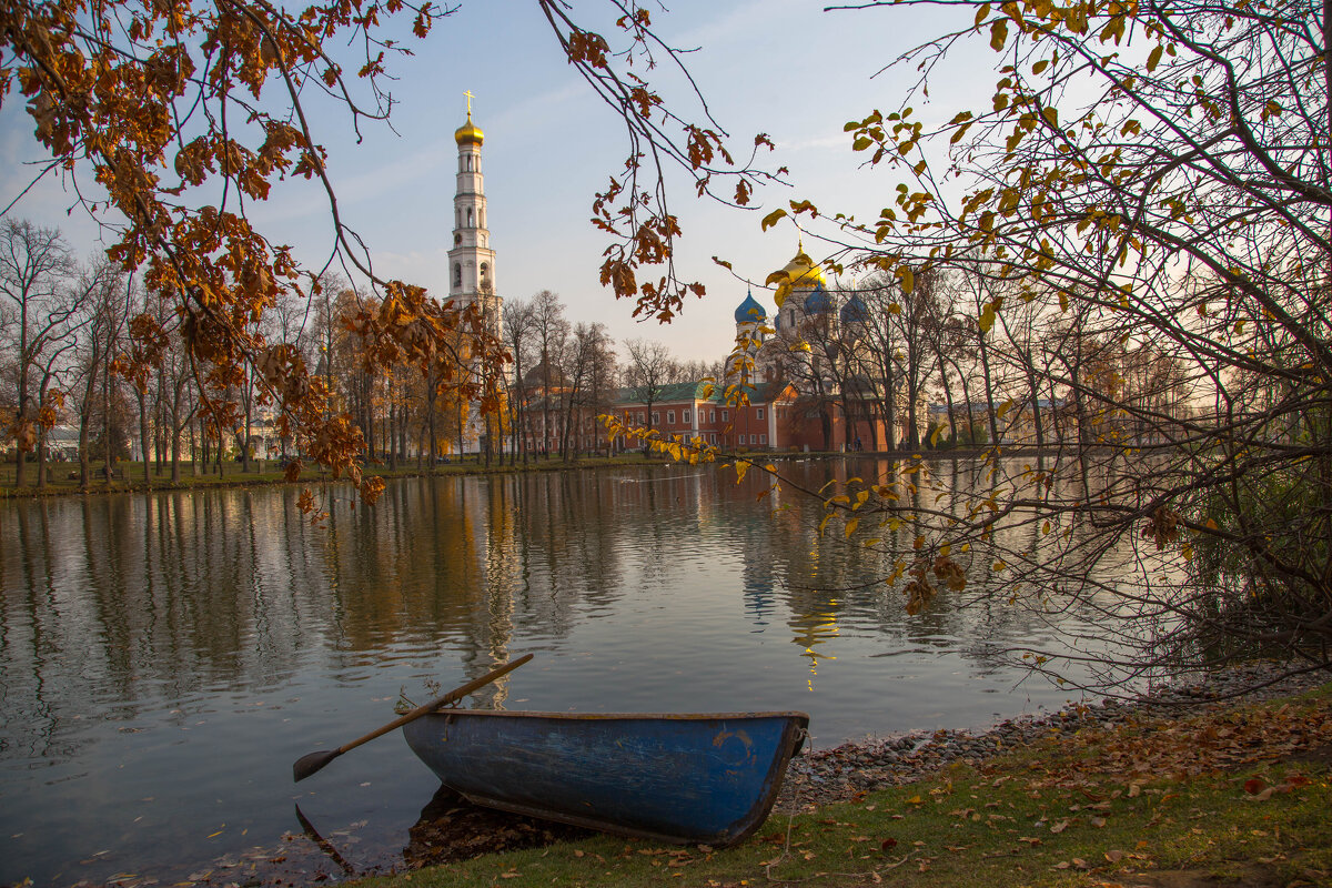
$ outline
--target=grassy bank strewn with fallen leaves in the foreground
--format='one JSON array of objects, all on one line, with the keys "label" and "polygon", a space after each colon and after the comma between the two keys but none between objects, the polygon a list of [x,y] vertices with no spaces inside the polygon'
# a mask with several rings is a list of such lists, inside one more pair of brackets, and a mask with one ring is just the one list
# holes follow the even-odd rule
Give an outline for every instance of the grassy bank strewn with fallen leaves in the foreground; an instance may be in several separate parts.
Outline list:
[{"label": "grassy bank strewn with fallen leaves in the foreground", "polygon": [[1088,728],[799,815],[737,848],[598,836],[357,883],[638,887],[1328,885],[1332,686]]}]

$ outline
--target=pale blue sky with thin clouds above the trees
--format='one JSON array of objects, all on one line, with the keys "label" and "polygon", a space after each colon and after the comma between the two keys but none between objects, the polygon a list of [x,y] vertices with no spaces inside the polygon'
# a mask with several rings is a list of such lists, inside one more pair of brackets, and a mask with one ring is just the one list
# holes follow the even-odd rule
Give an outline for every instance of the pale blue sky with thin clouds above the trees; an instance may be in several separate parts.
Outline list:
[{"label": "pale blue sky with thin clouds above the trees", "polygon": [[[575,1],[573,15],[610,37],[607,8],[597,0]],[[715,361],[734,343],[734,310],[747,285],[713,256],[754,281],[755,298],[774,309],[761,285],[795,253],[799,233],[790,222],[763,233],[759,220],[767,212],[807,198],[823,213],[872,218],[891,204],[900,177],[862,169],[863,154],[851,150],[843,124],[874,108],[896,109],[914,72],[906,67],[875,73],[940,33],[954,13],[940,7],[825,12],[809,0],[679,0],[651,9],[667,43],[697,48],[687,64],[714,118],[731,134],[733,153],[747,157],[754,134],[767,133],[777,150],[761,162],[790,169],[790,186],[765,186],[754,210],[697,200],[683,178],[675,182],[673,210],[685,232],[677,270],[706,286],[702,300],[690,298],[674,322],[659,325],[634,320],[634,306],[601,286],[601,254],[610,241],[589,218],[594,193],[623,166],[623,124],[567,64],[530,0],[464,0],[426,40],[412,41],[412,57],[390,61],[397,77],[392,128],[364,124],[357,141],[345,112],[313,105],[312,124],[329,150],[340,212],[372,250],[376,272],[421,284],[441,298],[448,294],[453,132],[466,118],[465,91],[476,96],[473,120],[485,132],[488,224],[500,296],[529,298],[553,290],[571,322],[603,322],[619,342],[661,341],[679,359]],[[970,19],[970,12],[963,15]],[[994,63],[988,52],[960,56],[948,76],[931,83],[930,104],[916,114],[947,120],[987,103]],[[667,99],[681,95],[679,83],[663,87]],[[31,118],[16,96],[9,99],[0,108],[0,206],[31,178],[23,164],[41,158]],[[11,216],[60,226],[88,256],[99,249],[97,228],[83,210],[68,212],[73,202],[59,180],[43,180]],[[250,218],[272,242],[292,245],[308,266],[328,260],[328,204],[309,184],[277,184]],[[827,253],[817,233],[806,237],[805,248],[815,260]]]}]

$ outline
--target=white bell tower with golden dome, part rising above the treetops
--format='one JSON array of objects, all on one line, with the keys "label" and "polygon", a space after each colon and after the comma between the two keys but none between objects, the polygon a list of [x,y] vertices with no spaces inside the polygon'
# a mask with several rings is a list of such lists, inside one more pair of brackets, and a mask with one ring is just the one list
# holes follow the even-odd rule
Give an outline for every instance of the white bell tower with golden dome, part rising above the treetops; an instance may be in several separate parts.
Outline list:
[{"label": "white bell tower with golden dome, part rising above the treetops", "polygon": [[500,332],[500,297],[496,296],[496,252],[486,229],[486,189],[481,174],[481,142],[485,133],[472,122],[472,92],[468,122],[453,133],[458,142],[458,190],[453,197],[453,248],[449,250],[449,298],[458,306],[480,304]]}]

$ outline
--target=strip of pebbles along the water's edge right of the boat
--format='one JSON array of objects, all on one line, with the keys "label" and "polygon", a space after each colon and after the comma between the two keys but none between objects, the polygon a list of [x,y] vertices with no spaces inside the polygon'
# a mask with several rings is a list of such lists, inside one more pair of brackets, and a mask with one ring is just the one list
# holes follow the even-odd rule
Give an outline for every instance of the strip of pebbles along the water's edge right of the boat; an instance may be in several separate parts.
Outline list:
[{"label": "strip of pebbles along the water's edge right of the boat", "polygon": [[806,748],[787,768],[777,811],[806,811],[844,801],[859,792],[915,783],[950,764],[979,764],[1036,740],[1088,727],[1110,728],[1140,716],[1177,718],[1235,695],[1259,702],[1297,694],[1328,680],[1324,671],[1285,672],[1281,664],[1256,663],[1193,675],[1132,698],[1070,703],[1056,712],[1004,719],[979,732],[914,731],[843,743],[831,750]]}]

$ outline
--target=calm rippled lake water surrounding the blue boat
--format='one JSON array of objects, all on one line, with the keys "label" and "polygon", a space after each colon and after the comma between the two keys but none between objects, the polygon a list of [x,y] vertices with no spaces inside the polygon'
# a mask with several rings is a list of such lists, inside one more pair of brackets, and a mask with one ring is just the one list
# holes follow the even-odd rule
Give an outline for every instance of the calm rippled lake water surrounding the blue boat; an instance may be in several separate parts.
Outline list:
[{"label": "calm rippled lake water surrounding the blue boat", "polygon": [[[887,467],[783,463],[811,489]],[[292,763],[526,652],[468,706],[803,710],[822,748],[1072,696],[998,651],[1096,615],[944,592],[907,616],[874,582],[891,553],[821,539],[819,505],[767,483],[420,478],[372,509],[329,486],[318,526],[296,487],[0,503],[0,883],[216,880],[312,845],[296,804],[357,869],[401,864],[438,781],[400,736],[298,785]]]}]

